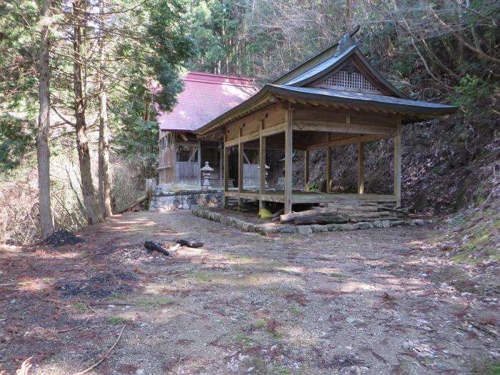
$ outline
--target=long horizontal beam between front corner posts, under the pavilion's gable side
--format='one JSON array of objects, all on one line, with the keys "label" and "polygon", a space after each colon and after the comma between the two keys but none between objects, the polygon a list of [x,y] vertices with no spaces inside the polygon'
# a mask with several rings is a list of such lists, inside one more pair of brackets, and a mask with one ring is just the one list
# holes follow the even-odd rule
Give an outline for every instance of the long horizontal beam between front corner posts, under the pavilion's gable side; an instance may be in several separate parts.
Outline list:
[{"label": "long horizontal beam between front corner posts, under the pavilion's gable side", "polygon": [[335,121],[294,121],[294,130],[329,131],[349,134],[381,134],[384,136],[394,136],[396,133],[394,126],[348,124],[347,122]]}]

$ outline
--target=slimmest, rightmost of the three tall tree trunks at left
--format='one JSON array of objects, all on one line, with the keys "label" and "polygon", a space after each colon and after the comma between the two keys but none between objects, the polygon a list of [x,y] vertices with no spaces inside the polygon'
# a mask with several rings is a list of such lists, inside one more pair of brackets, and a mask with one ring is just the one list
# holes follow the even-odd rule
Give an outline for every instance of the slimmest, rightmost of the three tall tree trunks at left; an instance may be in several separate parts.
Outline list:
[{"label": "slimmest, rightmost of the three tall tree trunks at left", "polygon": [[[104,13],[104,1],[101,2],[101,13]],[[111,176],[109,174],[109,137],[108,137],[108,107],[106,93],[106,46],[101,19],[101,35],[99,38],[99,204],[104,217],[113,215],[111,211]]]}]

